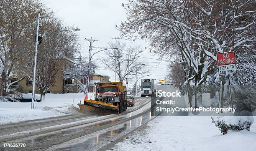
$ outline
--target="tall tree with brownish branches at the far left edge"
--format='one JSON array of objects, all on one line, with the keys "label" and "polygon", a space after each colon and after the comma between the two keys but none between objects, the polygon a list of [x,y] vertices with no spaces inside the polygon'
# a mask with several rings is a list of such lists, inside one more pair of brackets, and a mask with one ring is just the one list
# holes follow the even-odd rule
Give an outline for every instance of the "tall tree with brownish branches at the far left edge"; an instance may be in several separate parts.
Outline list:
[{"label": "tall tree with brownish branches at the far left edge", "polygon": [[[1,0],[0,1],[0,60],[10,76],[16,70],[15,65],[19,60],[20,45],[27,38],[26,25],[34,22],[38,12],[46,12],[41,0]],[[14,83],[7,83],[6,92]]]}]

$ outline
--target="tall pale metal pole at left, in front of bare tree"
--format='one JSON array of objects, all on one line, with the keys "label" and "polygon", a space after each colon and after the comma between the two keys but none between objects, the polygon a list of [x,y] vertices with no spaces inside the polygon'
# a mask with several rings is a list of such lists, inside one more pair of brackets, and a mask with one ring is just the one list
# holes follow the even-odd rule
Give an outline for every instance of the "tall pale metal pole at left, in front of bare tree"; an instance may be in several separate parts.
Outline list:
[{"label": "tall pale metal pole at left, in front of bare tree", "polygon": [[33,76],[33,91],[32,91],[32,98],[31,98],[31,109],[35,108],[36,63],[37,63],[37,46],[38,46],[39,27],[40,27],[40,13],[38,14],[37,27],[36,27],[35,63],[34,63],[34,76]]}]

